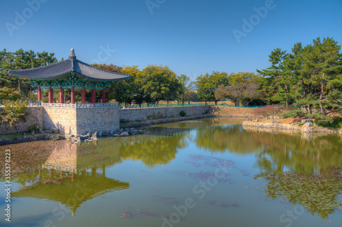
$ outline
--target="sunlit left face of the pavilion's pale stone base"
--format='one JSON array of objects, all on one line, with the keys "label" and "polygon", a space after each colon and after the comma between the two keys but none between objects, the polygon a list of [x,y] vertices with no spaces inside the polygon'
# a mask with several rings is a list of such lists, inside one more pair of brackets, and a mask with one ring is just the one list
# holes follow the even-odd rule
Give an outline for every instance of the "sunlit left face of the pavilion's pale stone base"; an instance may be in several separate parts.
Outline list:
[{"label": "sunlit left face of the pavilion's pale stone base", "polygon": [[43,116],[44,129],[55,133],[77,134],[75,108],[44,107]]}]

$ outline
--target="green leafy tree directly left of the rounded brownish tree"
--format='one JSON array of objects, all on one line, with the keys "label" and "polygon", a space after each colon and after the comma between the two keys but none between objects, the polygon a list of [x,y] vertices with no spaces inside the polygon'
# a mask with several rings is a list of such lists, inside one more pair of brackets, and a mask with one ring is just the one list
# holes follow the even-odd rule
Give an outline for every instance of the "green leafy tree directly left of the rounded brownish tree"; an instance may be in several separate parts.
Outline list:
[{"label": "green leafy tree directly left of the rounded brownish tree", "polygon": [[219,85],[228,85],[228,74],[226,72],[212,72],[211,75],[206,73],[196,78],[197,95],[203,101],[215,101],[218,103],[219,99],[215,98],[215,90]]}]

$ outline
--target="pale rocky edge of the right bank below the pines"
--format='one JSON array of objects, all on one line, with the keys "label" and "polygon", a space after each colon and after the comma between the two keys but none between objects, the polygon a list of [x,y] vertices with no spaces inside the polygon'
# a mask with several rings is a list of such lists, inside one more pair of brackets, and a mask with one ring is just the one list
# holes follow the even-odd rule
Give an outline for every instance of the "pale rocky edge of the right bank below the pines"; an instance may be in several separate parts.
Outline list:
[{"label": "pale rocky edge of the right bank below the pines", "polygon": [[242,127],[244,129],[270,129],[273,131],[281,131],[280,129],[285,130],[295,130],[301,131],[302,133],[340,133],[342,134],[342,129],[329,129],[320,126],[312,126],[310,122],[304,122],[304,125],[299,124],[280,124],[278,121],[274,120],[272,123],[269,122],[257,122],[257,121],[244,121],[242,123]]}]

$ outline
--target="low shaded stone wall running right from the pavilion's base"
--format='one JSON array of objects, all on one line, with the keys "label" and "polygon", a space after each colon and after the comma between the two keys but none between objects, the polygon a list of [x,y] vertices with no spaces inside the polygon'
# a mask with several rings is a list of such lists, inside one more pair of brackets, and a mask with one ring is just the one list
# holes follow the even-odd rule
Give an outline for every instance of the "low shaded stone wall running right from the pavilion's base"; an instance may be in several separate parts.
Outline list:
[{"label": "low shaded stone wall running right from the pavilion's base", "polygon": [[137,120],[159,119],[159,118],[176,118],[180,117],[179,112],[185,111],[186,116],[198,116],[208,114],[211,106],[194,106],[194,107],[162,107],[162,108],[137,108],[137,109],[120,109],[120,120],[128,120],[135,122]]}]

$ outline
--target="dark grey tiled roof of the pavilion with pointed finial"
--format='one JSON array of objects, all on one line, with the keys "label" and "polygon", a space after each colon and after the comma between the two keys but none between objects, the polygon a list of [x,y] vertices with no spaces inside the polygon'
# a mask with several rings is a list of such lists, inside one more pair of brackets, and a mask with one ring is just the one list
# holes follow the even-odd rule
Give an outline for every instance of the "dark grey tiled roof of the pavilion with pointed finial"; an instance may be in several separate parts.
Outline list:
[{"label": "dark grey tiled roof of the pavilion with pointed finial", "polygon": [[104,80],[104,81],[116,81],[121,79],[128,79],[128,74],[111,72],[90,66],[84,62],[76,59],[73,49],[69,59],[62,62],[57,62],[49,66],[42,66],[38,68],[9,70],[8,74],[16,77],[22,77],[26,79],[55,79],[61,75],[65,75],[69,72],[77,72],[83,77],[88,77],[90,80]]}]

